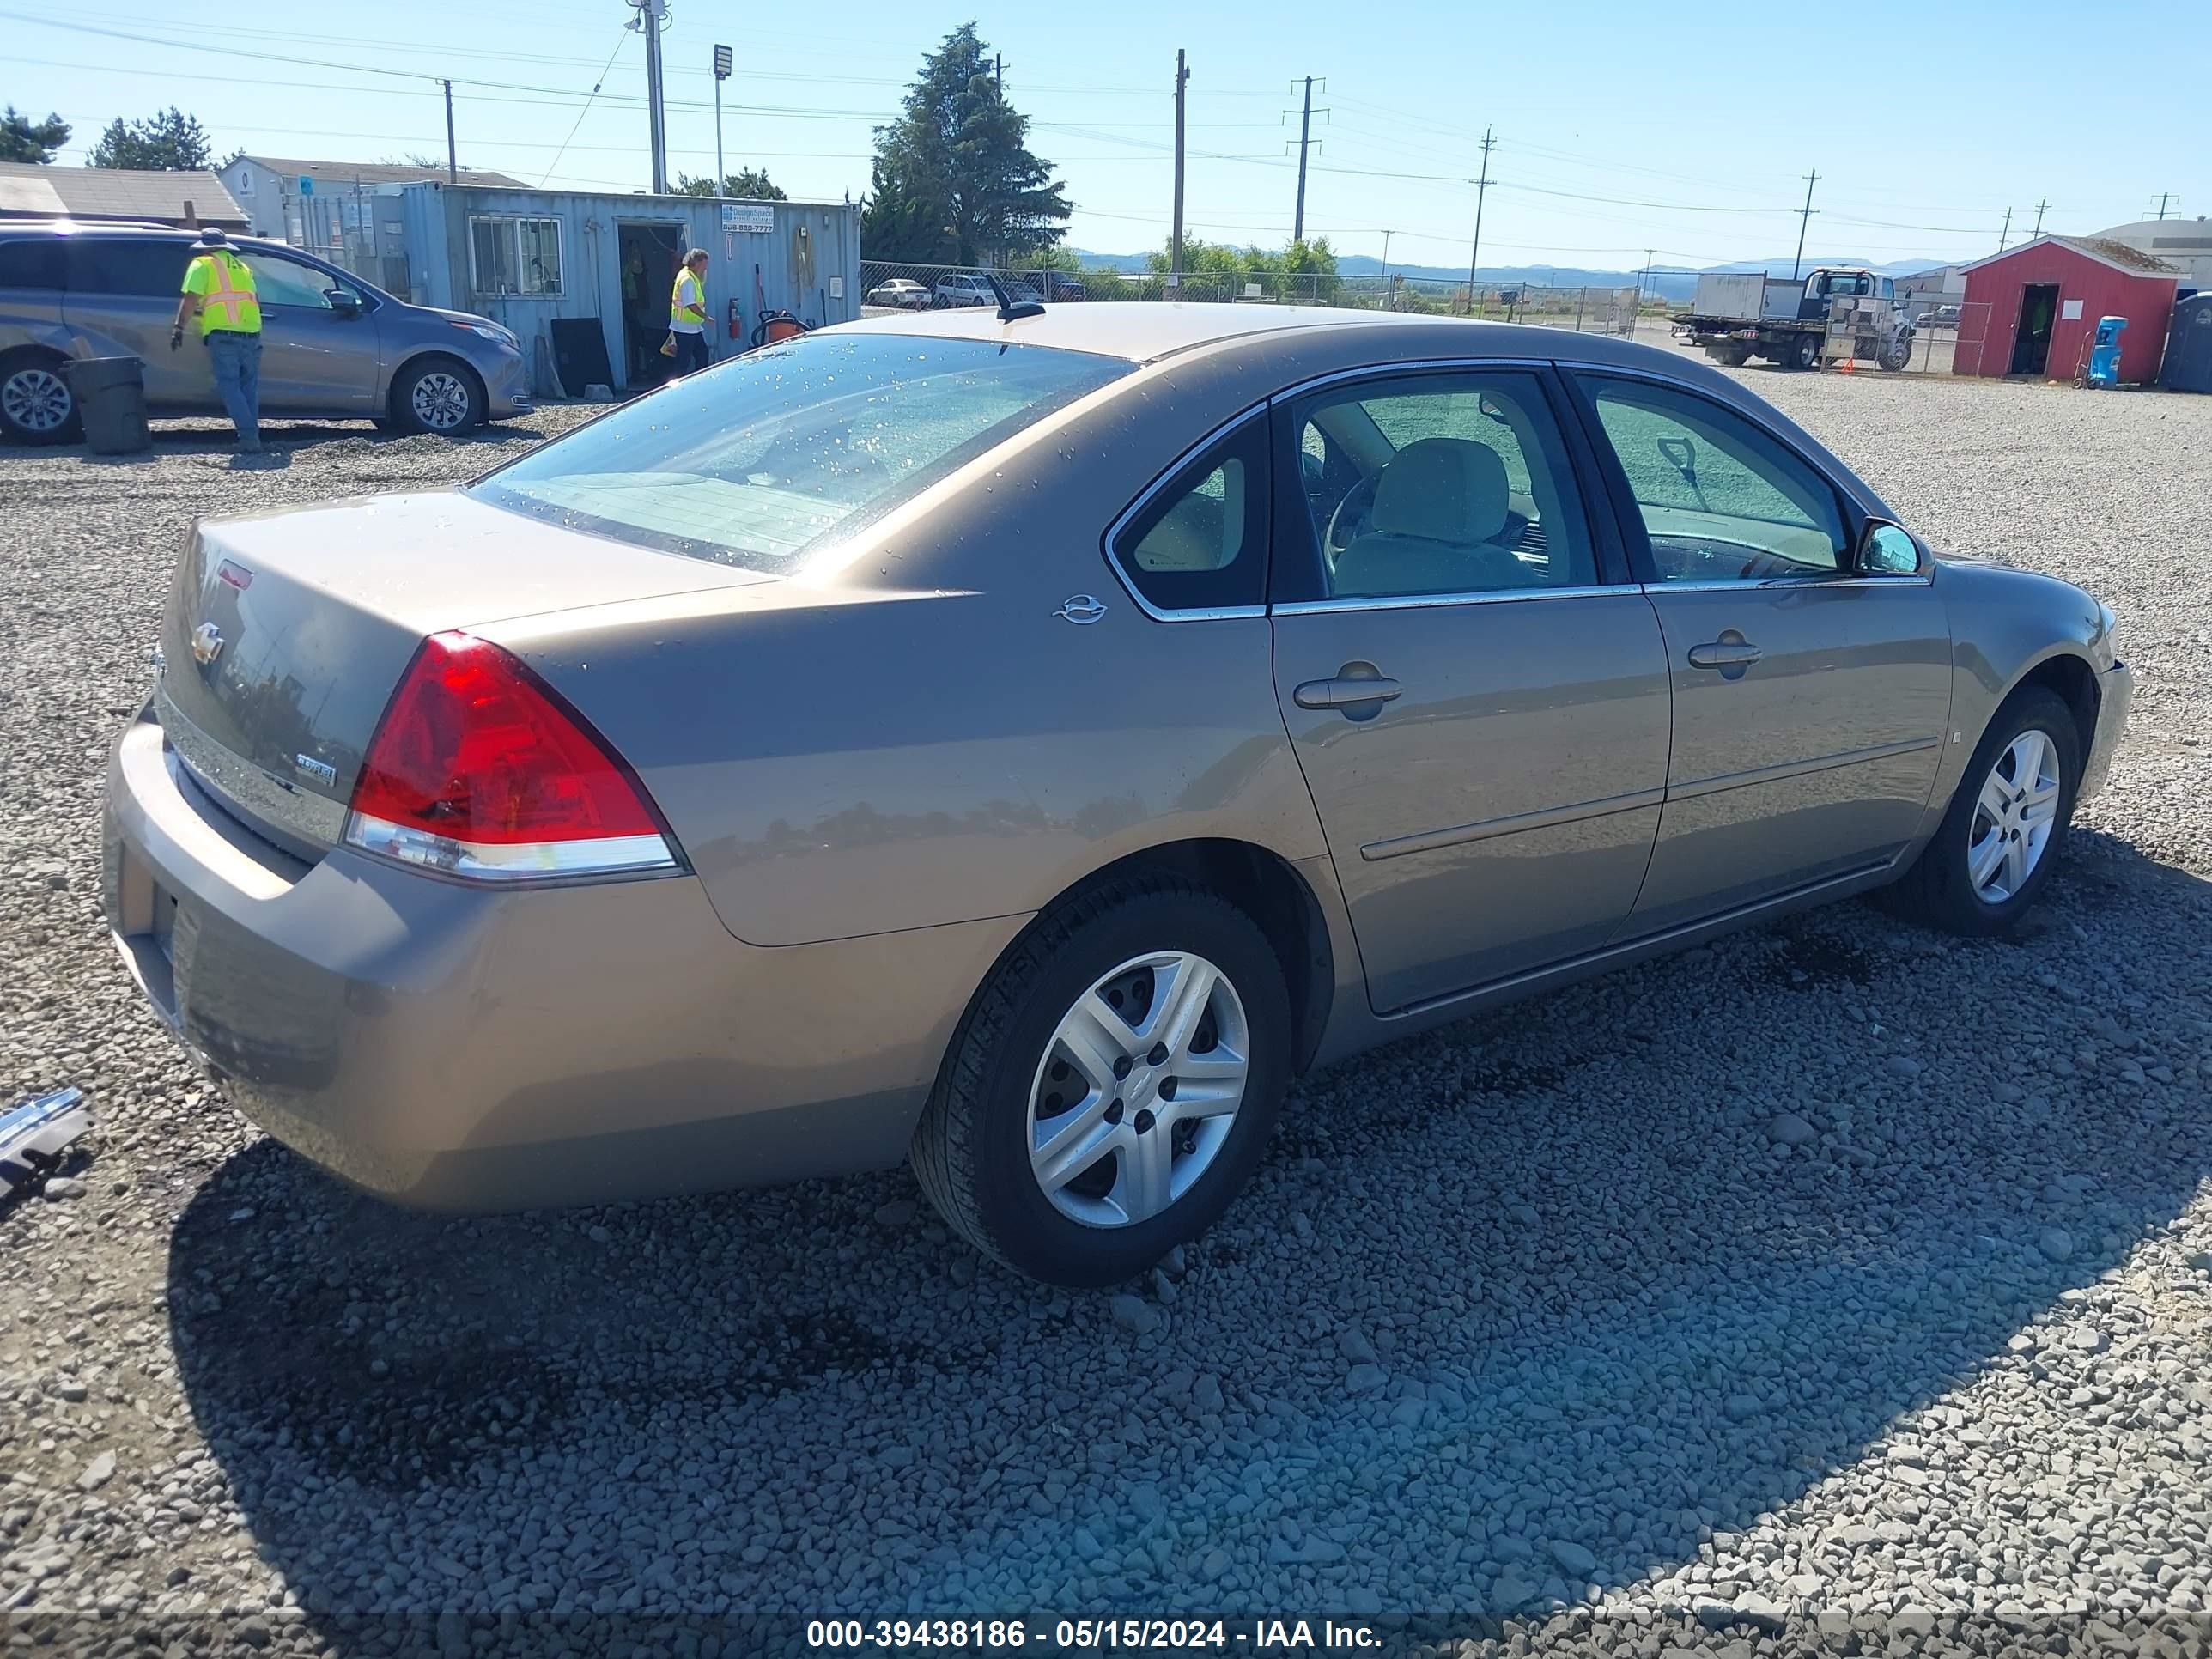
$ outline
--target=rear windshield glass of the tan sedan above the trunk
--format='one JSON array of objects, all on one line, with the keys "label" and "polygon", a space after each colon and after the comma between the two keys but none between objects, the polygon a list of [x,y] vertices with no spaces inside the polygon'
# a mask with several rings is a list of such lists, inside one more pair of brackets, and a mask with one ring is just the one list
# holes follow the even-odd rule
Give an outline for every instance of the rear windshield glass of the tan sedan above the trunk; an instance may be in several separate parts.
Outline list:
[{"label": "rear windshield glass of the tan sedan above the trunk", "polygon": [[814,334],[721,363],[469,493],[664,553],[790,575],[1135,365],[911,334]]}]

